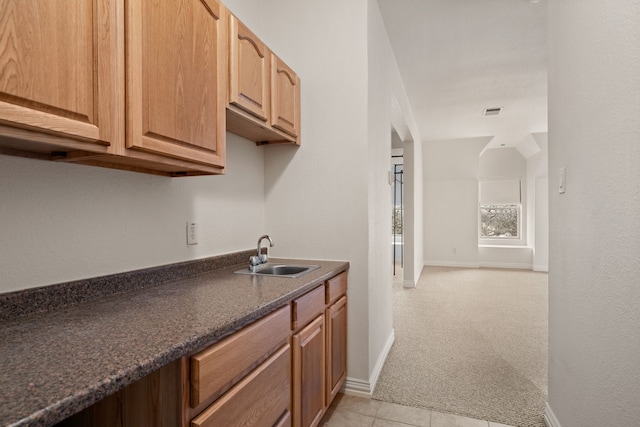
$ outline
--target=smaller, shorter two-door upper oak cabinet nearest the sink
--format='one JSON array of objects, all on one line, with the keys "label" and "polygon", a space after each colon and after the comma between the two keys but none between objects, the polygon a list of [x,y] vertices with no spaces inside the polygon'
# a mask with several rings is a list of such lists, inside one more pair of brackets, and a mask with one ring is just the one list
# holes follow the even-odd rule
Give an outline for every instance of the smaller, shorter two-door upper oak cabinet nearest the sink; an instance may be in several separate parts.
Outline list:
[{"label": "smaller, shorter two-door upper oak cabinet nearest the sink", "polygon": [[229,16],[227,130],[257,143],[300,143],[300,79]]}]

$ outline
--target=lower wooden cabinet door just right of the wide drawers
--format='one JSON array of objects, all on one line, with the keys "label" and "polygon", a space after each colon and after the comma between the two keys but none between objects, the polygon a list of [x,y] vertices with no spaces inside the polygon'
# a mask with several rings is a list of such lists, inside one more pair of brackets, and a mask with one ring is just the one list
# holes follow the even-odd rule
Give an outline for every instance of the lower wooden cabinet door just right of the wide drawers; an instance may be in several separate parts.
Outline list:
[{"label": "lower wooden cabinet door just right of the wide drawers", "polygon": [[315,427],[325,409],[324,315],[293,336],[293,425]]}]

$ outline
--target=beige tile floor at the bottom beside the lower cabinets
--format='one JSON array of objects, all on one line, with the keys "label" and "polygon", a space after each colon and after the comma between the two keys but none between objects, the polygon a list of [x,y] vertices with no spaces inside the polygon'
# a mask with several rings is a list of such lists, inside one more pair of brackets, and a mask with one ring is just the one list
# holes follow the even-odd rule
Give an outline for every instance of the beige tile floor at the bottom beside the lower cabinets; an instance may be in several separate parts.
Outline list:
[{"label": "beige tile floor at the bottom beside the lower cabinets", "polygon": [[338,394],[320,427],[512,427],[505,424],[443,414]]}]

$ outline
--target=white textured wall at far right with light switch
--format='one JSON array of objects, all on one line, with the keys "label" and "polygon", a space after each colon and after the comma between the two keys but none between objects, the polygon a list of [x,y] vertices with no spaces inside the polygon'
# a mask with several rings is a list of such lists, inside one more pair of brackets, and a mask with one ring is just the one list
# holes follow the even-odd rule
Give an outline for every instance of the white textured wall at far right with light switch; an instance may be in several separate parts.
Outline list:
[{"label": "white textured wall at far right with light switch", "polygon": [[[640,420],[640,2],[552,1],[549,408]],[[567,168],[566,193],[558,171]]]}]

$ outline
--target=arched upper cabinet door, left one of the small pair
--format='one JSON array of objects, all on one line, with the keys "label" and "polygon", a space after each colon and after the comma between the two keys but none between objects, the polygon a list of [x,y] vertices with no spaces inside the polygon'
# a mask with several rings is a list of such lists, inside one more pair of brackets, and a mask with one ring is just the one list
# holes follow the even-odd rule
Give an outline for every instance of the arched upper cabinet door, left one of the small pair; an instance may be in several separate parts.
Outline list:
[{"label": "arched upper cabinet door, left one of the small pair", "polygon": [[242,22],[229,18],[229,102],[262,121],[269,114],[267,47]]}]

